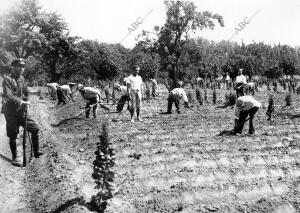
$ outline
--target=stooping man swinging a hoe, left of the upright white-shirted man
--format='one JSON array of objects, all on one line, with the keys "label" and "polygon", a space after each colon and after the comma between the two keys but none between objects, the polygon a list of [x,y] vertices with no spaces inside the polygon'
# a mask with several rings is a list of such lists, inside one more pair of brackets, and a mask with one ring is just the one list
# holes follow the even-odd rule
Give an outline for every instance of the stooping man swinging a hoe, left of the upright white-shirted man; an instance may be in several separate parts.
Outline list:
[{"label": "stooping man swinging a hoe, left of the upright white-shirted man", "polygon": [[90,108],[93,106],[93,116],[94,118],[97,117],[97,109],[98,103],[101,99],[101,93],[98,89],[92,87],[84,87],[82,84],[78,84],[78,91],[80,92],[82,98],[86,101],[85,105],[85,116],[86,118],[90,117]]}]

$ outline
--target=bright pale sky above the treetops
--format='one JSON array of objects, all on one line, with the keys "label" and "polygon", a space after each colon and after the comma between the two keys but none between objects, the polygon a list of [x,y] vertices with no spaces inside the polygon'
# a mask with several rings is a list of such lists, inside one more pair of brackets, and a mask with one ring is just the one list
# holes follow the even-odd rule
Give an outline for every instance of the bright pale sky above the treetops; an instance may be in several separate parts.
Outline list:
[{"label": "bright pale sky above the treetops", "polygon": [[[192,37],[246,44],[300,46],[300,0],[191,0],[198,11],[224,18],[224,27],[197,31]],[[0,13],[13,5],[0,0]],[[153,31],[165,23],[163,0],[39,0],[44,10],[62,15],[73,36],[132,48],[142,30]],[[252,18],[250,18],[252,17]],[[243,26],[241,22],[245,22]],[[132,24],[137,23],[133,28]]]}]

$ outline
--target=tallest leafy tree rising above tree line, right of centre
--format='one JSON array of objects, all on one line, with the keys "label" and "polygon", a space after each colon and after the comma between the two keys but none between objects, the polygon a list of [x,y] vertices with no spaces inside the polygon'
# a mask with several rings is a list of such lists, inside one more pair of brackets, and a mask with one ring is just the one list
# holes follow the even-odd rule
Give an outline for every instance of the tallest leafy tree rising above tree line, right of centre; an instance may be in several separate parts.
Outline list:
[{"label": "tallest leafy tree rising above tree line, right of centre", "polygon": [[161,69],[170,67],[169,77],[173,80],[173,87],[177,85],[179,59],[185,43],[189,40],[191,32],[210,28],[214,29],[214,20],[224,26],[222,16],[204,11],[198,12],[193,2],[189,1],[165,1],[167,9],[167,20],[163,27],[155,27],[155,37],[149,39],[144,37],[144,41],[152,43],[160,56]]}]

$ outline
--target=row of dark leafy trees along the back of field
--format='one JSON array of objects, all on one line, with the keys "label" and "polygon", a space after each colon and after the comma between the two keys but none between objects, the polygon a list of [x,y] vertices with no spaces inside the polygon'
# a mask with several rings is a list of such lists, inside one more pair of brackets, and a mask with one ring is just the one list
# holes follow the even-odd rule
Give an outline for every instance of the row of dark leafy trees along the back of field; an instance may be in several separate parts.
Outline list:
[{"label": "row of dark leafy trees along the back of field", "polygon": [[247,75],[278,78],[299,73],[300,48],[264,43],[210,42],[191,38],[204,28],[224,26],[222,16],[199,12],[192,2],[166,0],[166,22],[152,32],[143,31],[132,49],[70,36],[67,23],[42,10],[37,0],[20,0],[0,17],[0,71],[9,71],[14,57],[27,59],[29,79],[47,81],[112,80],[123,77],[132,65],[141,65],[145,79],[212,77],[239,68]]}]

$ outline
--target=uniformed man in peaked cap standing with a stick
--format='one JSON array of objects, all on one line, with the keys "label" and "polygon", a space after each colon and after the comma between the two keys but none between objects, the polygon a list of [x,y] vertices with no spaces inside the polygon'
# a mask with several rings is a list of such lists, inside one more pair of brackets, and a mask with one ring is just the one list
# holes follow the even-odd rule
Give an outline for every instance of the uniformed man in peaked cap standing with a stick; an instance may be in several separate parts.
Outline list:
[{"label": "uniformed man in peaked cap standing with a stick", "polygon": [[19,133],[19,127],[24,127],[27,122],[27,131],[31,133],[33,143],[34,157],[38,158],[43,153],[39,151],[39,126],[37,123],[27,116],[25,111],[30,106],[28,101],[29,90],[26,81],[22,76],[25,69],[24,59],[16,59],[11,63],[12,73],[5,76],[2,86],[2,108],[1,113],[4,114],[6,120],[6,132],[9,137],[9,145],[12,153],[12,164],[21,166],[18,159],[16,138]]}]

